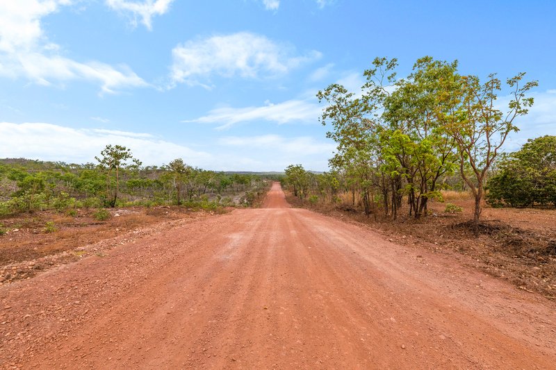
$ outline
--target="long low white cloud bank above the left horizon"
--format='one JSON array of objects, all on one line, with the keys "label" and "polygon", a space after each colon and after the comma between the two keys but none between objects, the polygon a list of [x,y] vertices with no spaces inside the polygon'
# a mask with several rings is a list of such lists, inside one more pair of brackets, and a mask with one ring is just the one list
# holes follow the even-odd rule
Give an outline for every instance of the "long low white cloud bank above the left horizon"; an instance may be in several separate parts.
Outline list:
[{"label": "long low white cloud bank above the left horizon", "polygon": [[159,140],[147,133],[0,122],[2,157],[95,162],[95,155],[107,144],[130,148],[144,165],[161,165],[175,158],[183,158],[191,165],[207,165],[212,160],[208,153]]}]

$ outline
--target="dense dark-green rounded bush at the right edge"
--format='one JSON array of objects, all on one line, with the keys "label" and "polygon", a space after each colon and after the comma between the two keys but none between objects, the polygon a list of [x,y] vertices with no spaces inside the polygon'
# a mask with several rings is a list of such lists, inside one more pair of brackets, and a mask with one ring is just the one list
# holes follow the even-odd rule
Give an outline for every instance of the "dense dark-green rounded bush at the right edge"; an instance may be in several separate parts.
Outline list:
[{"label": "dense dark-green rounded bush at the right edge", "polygon": [[556,136],[528,140],[498,167],[487,183],[486,201],[493,207],[556,206]]}]

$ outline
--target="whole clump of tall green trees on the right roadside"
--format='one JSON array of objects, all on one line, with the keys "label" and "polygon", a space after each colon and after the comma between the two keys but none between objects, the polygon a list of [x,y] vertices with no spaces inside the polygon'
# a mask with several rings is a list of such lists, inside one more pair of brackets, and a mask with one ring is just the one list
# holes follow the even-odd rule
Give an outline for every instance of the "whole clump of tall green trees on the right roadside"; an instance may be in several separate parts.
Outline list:
[{"label": "whole clump of tall green trees on the right roadside", "polygon": [[457,61],[427,56],[398,79],[397,66],[395,59],[375,58],[363,73],[361,94],[338,84],[317,94],[326,103],[320,121],[332,128],[327,137],[337,144],[329,162],[341,187],[352,193],[353,205],[359,194],[367,215],[376,215],[378,198],[395,219],[405,195],[409,215],[420,217],[439,196],[441,180],[459,169],[461,190],[468,187],[475,196],[478,221],[486,176],[507,135],[517,131],[514,121],[532,106],[527,94],[537,82],[524,83],[523,73],[509,78],[512,99],[502,111],[496,104],[502,83],[494,74],[482,83],[461,76]]}]

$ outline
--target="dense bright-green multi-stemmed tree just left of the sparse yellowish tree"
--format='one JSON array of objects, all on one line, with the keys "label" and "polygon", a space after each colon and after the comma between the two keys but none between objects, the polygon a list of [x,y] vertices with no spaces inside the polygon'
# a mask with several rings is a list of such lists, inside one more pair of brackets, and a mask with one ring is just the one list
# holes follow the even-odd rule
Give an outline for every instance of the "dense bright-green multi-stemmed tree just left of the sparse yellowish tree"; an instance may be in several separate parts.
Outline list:
[{"label": "dense bright-green multi-stemmed tree just left of the sparse yellowish tree", "polygon": [[439,178],[455,170],[457,145],[445,131],[439,112],[452,108],[449,103],[457,106],[457,101],[446,100],[445,95],[457,90],[458,81],[457,61],[420,58],[384,103],[389,123],[382,133],[384,157],[406,180],[409,215],[414,217],[426,215],[428,200],[439,196]]}]

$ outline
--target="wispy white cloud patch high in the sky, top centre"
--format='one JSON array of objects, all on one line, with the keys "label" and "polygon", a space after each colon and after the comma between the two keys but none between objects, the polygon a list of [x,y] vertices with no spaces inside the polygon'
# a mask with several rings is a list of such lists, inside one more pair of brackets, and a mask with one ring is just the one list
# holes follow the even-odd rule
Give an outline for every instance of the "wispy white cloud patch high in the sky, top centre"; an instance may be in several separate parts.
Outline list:
[{"label": "wispy white cloud patch high in the sky, top centre", "polygon": [[172,50],[172,84],[199,85],[212,75],[242,78],[277,77],[321,57],[318,51],[302,56],[288,44],[263,35],[240,32],[179,44]]}]

